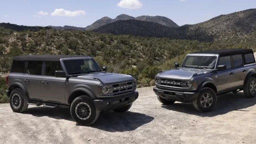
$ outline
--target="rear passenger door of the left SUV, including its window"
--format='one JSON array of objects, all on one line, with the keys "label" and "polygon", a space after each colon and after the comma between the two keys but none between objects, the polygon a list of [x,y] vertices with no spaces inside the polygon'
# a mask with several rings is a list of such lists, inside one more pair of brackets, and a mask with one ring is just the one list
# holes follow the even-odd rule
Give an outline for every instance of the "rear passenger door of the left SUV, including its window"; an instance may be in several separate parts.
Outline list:
[{"label": "rear passenger door of the left SUV, including its window", "polygon": [[27,61],[26,72],[23,81],[29,98],[41,100],[41,71],[42,61]]}]

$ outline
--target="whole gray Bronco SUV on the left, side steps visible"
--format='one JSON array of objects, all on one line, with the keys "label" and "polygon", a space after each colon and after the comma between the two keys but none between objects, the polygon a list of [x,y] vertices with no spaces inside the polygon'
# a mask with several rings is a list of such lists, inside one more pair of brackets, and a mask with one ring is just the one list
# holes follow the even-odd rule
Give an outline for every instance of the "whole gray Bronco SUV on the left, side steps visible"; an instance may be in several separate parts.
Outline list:
[{"label": "whole gray Bronco SUV on the left, side steps visible", "polygon": [[28,104],[69,107],[83,125],[95,122],[102,110],[127,111],[138,97],[132,75],[101,70],[88,56],[15,56],[6,82],[14,112],[23,112]]}]

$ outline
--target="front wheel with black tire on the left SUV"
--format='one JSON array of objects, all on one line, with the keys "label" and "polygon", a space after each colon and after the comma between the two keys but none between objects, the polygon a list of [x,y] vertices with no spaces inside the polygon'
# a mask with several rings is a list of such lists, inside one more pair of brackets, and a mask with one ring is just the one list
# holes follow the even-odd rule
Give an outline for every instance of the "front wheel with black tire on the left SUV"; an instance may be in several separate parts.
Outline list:
[{"label": "front wheel with black tire on the left SUV", "polygon": [[98,118],[99,112],[92,99],[86,95],[76,97],[70,106],[71,116],[79,125],[90,125],[94,123]]}]

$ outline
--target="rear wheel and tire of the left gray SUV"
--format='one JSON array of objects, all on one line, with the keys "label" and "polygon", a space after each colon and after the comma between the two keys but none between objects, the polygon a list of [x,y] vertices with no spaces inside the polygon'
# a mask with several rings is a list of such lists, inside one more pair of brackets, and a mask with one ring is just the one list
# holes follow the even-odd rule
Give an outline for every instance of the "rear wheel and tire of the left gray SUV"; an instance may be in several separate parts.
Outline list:
[{"label": "rear wheel and tire of the left gray SUV", "polygon": [[10,92],[10,107],[14,112],[24,112],[28,107],[28,98],[23,94],[20,88],[14,88]]}]

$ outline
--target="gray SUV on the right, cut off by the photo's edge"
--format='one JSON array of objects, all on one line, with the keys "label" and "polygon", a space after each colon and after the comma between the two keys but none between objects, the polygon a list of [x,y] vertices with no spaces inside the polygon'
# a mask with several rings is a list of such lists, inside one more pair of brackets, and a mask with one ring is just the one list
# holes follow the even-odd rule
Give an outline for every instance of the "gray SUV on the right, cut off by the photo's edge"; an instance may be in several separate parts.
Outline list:
[{"label": "gray SUV on the right, cut off by the photo's edge", "polygon": [[256,95],[256,63],[252,49],[218,49],[192,52],[182,64],[155,75],[154,93],[163,104],[192,102],[206,112],[217,102],[216,95],[243,90]]}]

